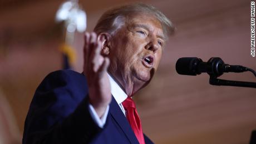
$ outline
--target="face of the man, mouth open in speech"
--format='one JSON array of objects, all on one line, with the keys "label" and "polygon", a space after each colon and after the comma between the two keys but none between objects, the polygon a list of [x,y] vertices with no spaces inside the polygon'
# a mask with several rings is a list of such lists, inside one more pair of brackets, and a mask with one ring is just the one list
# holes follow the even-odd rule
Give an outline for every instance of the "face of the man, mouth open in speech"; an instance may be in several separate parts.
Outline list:
[{"label": "face of the man, mouth open in speech", "polygon": [[163,29],[155,17],[133,14],[112,38],[111,73],[119,81],[132,80],[140,88],[145,86],[159,65],[164,44]]}]

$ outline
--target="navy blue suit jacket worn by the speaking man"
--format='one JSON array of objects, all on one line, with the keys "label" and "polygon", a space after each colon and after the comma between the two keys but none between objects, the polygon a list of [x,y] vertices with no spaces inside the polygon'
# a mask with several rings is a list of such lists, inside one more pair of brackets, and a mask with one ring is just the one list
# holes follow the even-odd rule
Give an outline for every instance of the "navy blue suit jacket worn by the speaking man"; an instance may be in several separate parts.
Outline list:
[{"label": "navy blue suit jacket worn by the speaking man", "polygon": [[[50,73],[29,107],[22,143],[139,143],[114,98],[104,128],[100,128],[88,110],[87,95],[86,78],[81,73]],[[144,137],[146,143],[152,143]]]}]

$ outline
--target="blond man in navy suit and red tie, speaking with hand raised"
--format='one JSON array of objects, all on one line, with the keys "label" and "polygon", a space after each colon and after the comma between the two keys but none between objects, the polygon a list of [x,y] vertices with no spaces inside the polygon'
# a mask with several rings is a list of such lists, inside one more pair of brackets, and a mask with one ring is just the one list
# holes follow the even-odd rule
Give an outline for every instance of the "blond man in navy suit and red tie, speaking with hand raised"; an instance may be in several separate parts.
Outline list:
[{"label": "blond man in navy suit and red tie, speaking with hand raised", "polygon": [[152,143],[132,96],[149,84],[173,24],[146,4],[105,12],[85,33],[83,73],[50,73],[27,114],[23,143]]}]

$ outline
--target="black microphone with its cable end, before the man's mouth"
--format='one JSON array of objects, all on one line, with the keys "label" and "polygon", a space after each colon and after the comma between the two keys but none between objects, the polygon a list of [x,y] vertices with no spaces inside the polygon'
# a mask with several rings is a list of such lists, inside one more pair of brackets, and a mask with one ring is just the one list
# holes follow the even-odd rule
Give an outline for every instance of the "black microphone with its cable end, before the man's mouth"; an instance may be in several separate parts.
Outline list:
[{"label": "black microphone with its cable end, before the man's mouth", "polygon": [[225,64],[221,58],[212,57],[208,62],[203,62],[197,57],[183,57],[176,62],[176,71],[180,75],[196,76],[207,72],[210,76],[219,77],[224,72],[245,72],[247,67]]}]

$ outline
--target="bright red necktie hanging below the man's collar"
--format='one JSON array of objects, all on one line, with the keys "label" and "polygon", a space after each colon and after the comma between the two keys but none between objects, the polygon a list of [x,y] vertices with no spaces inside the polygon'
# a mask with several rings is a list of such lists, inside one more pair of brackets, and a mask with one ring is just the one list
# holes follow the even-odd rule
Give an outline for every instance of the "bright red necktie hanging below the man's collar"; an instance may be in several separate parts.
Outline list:
[{"label": "bright red necktie hanging below the man's collar", "polygon": [[131,97],[127,97],[126,100],[122,102],[122,106],[124,106],[126,110],[126,118],[129,121],[137,140],[140,142],[140,144],[145,144],[140,117],[137,113],[134,101],[131,99]]}]

